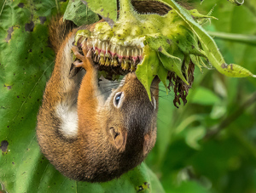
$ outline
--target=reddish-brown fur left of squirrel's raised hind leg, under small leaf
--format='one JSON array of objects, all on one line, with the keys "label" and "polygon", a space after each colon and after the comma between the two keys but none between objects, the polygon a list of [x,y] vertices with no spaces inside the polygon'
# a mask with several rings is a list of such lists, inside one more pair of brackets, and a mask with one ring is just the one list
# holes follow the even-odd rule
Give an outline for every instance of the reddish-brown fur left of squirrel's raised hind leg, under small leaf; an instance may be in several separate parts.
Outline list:
[{"label": "reddish-brown fur left of squirrel's raised hind leg, under small leaf", "polygon": [[77,26],[71,20],[63,20],[62,16],[55,16],[49,23],[49,42],[57,54],[67,34]]}]

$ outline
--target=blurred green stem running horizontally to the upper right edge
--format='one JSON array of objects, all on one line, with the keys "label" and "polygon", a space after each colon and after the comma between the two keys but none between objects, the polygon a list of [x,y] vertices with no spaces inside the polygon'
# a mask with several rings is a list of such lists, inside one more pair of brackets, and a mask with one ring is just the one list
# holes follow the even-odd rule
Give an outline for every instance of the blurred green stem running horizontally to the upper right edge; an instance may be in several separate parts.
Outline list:
[{"label": "blurred green stem running horizontally to the upper right edge", "polygon": [[215,38],[219,38],[219,39],[256,45],[256,36],[253,36],[253,35],[225,33],[225,32],[218,32],[218,31],[207,31],[207,33],[210,36],[215,37]]}]

